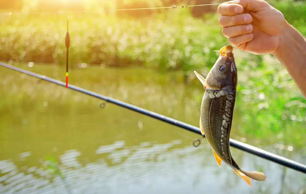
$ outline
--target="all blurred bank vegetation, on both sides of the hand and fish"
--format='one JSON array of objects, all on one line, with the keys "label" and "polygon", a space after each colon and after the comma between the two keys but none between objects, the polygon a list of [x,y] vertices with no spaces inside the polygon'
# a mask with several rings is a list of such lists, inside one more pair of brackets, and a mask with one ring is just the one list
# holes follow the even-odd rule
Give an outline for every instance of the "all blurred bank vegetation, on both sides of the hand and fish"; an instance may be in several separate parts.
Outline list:
[{"label": "all blurred bank vegetation, on both sides of the hand and fish", "polygon": [[[306,34],[305,20],[300,17],[306,14],[304,2],[268,2]],[[147,6],[161,6],[158,1],[150,3],[155,4]],[[142,66],[161,72],[180,70],[185,77],[200,69],[205,75],[217,59],[214,50],[225,43],[218,14],[193,18],[185,8],[168,9],[139,19],[116,17],[116,14],[69,14],[71,66],[78,67],[80,63]],[[5,15],[0,21],[2,61],[65,65],[66,14]],[[290,142],[303,142],[306,101],[285,68],[270,55],[244,52],[235,55],[239,77],[235,107],[244,115],[239,127],[241,133],[263,139],[276,135],[280,140],[285,141],[286,137]]]}]

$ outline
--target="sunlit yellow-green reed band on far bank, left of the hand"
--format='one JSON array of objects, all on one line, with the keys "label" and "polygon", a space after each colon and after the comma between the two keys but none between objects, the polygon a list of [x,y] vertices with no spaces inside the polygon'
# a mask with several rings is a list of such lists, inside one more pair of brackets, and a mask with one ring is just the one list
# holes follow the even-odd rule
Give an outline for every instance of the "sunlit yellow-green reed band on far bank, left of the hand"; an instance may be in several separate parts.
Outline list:
[{"label": "sunlit yellow-green reed band on far bank, left of the hand", "polygon": [[[138,20],[71,14],[70,64],[144,65],[188,71],[205,62],[211,67],[216,57],[213,50],[219,50],[225,42],[221,27],[215,25],[218,17],[193,19],[185,10]],[[0,59],[65,64],[65,14],[11,15],[2,16],[1,21]]]}]

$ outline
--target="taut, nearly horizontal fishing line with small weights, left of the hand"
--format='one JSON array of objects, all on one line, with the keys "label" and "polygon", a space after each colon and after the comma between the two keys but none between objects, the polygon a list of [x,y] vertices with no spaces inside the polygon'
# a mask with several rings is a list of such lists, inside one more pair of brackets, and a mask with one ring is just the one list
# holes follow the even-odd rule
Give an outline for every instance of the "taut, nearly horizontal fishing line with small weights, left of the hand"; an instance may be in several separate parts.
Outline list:
[{"label": "taut, nearly horizontal fishing line with small weights, left of the hand", "polygon": [[[184,8],[184,7],[195,7],[195,6],[212,6],[212,5],[220,5],[222,3],[213,3],[213,4],[202,4],[202,5],[181,5],[179,7]],[[103,13],[103,12],[108,12],[108,11],[130,11],[130,10],[153,10],[153,9],[167,9],[167,8],[172,8],[176,9],[177,6],[172,6],[172,7],[148,7],[148,8],[132,8],[132,9],[114,9],[114,10],[100,10],[100,11],[71,11],[71,12],[41,12],[41,13],[21,13],[21,12],[9,12],[9,13],[0,13],[0,15],[17,15],[17,14],[23,14],[23,15],[33,15],[33,14],[65,14],[65,13]]]}]

